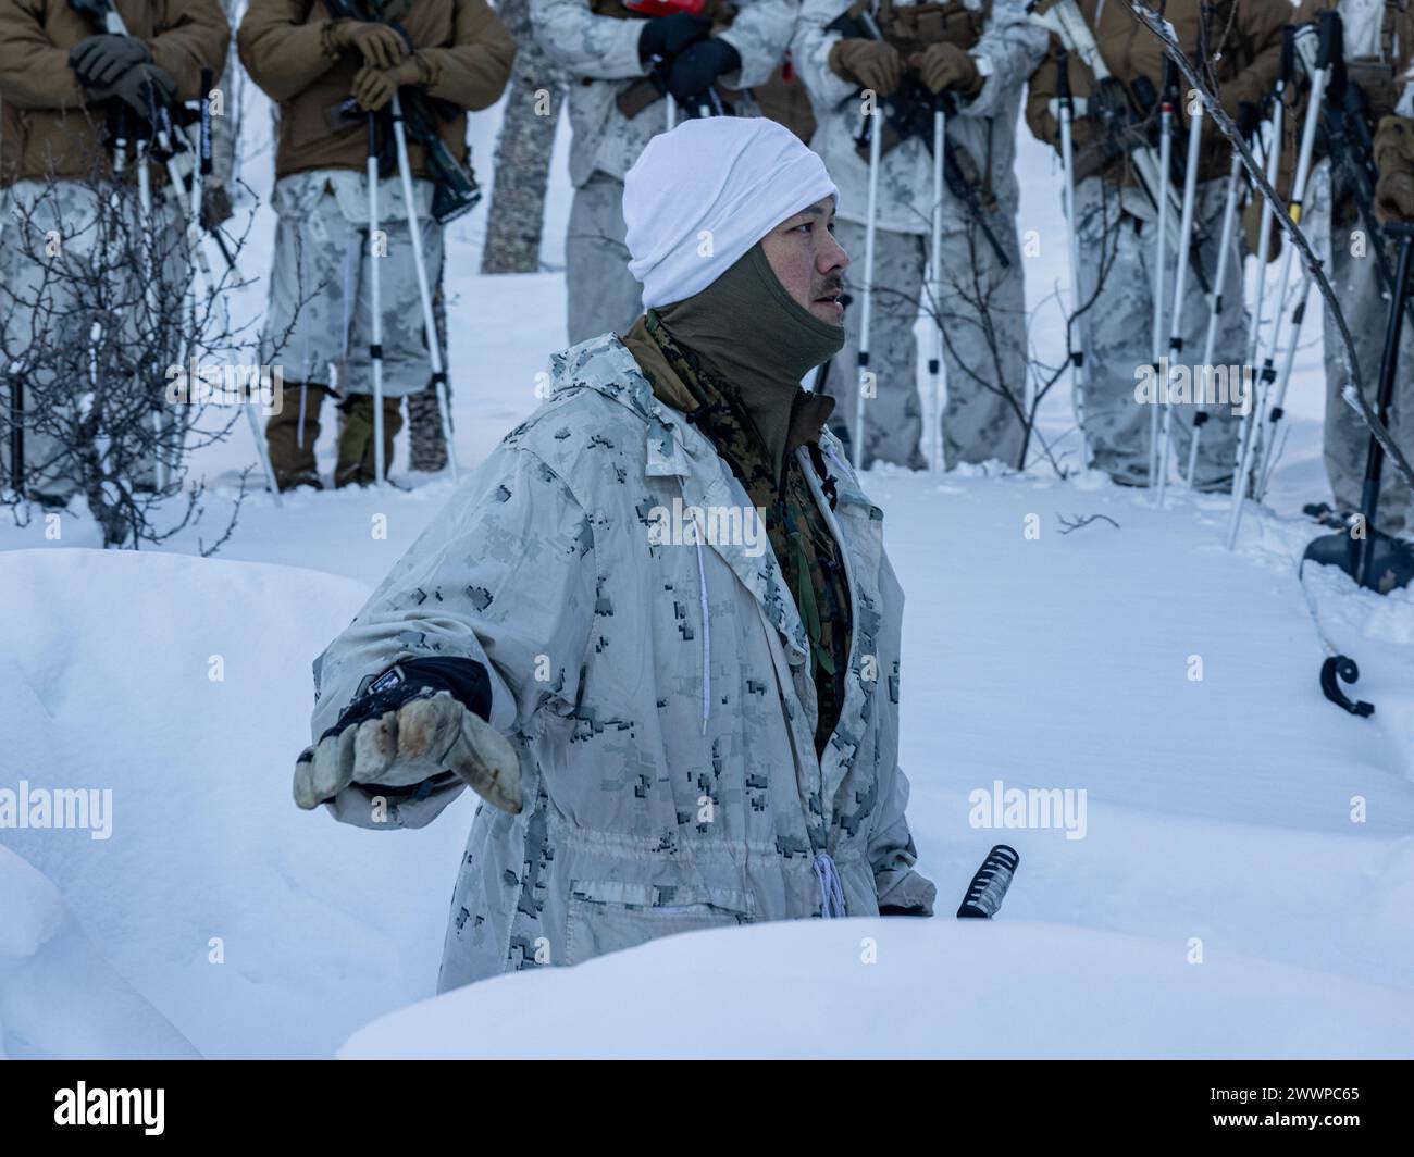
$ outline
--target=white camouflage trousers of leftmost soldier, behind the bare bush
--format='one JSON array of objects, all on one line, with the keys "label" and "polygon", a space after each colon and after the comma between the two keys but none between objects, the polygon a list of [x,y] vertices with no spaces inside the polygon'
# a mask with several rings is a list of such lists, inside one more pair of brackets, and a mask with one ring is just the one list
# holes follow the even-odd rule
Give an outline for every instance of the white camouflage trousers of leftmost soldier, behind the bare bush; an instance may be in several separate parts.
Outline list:
[{"label": "white camouflage trousers of leftmost soldier, behind the bare bush", "polygon": [[[112,219],[112,211],[96,204],[92,188],[78,181],[17,181],[0,191],[0,366],[23,366],[24,355],[37,345],[82,347],[89,341],[95,301],[123,303],[140,294],[136,269],[132,270],[132,281],[110,284],[103,294],[95,294],[92,286],[78,283],[79,272],[86,267],[83,263],[93,257],[99,243],[105,243],[105,222]],[[163,266],[157,283],[164,287],[164,293],[174,289],[181,291],[178,287],[185,287],[185,262],[181,259],[180,231],[174,209],[164,201],[160,188],[154,190],[153,212],[153,252],[160,255],[157,260]],[[137,236],[133,232],[112,243],[136,245]],[[68,255],[78,264],[66,266],[59,256],[51,270],[45,253],[51,240],[58,255]],[[68,269],[74,272],[66,273]],[[143,322],[129,314],[126,324],[136,347],[141,338],[134,327]],[[40,341],[35,330],[48,325],[59,327],[59,332],[45,334]],[[28,389],[21,382],[20,405],[11,412],[10,380],[0,372],[0,429],[6,431],[0,437],[0,488],[10,484],[10,430],[14,423],[23,430],[25,488],[33,495],[64,501],[79,489],[74,458],[82,447],[66,446],[51,423],[35,421],[34,390],[41,390],[52,406],[57,379],[55,371],[44,366],[34,368],[31,373]],[[86,382],[82,386],[74,383],[75,405],[86,388]],[[164,419],[168,423],[177,421],[181,414],[165,413]],[[180,438],[170,437],[165,441],[177,444]],[[133,482],[139,488],[151,487],[154,474],[156,463],[150,454],[144,454],[139,477]]]}]

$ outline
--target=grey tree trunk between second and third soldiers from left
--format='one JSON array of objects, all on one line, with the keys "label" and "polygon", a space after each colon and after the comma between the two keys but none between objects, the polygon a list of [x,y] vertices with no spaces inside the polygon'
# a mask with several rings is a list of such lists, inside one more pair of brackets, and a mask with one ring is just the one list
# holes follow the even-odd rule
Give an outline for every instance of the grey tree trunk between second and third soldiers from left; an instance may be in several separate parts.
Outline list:
[{"label": "grey tree trunk between second and third soldiers from left", "polygon": [[534,40],[530,0],[499,0],[496,14],[519,52],[496,140],[496,178],[481,272],[534,273],[540,269],[544,194],[554,126],[560,119],[561,78]]}]

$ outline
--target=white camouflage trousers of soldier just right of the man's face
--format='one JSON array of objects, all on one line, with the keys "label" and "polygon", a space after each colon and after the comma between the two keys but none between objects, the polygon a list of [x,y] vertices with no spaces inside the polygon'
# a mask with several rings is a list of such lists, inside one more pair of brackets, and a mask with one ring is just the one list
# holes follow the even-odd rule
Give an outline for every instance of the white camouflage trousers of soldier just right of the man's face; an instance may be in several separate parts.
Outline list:
[{"label": "white camouflage trousers of soldier just right of the man's face", "polygon": [[[939,318],[947,405],[943,409],[943,463],[998,458],[1019,465],[1024,441],[1021,412],[1027,389],[1027,314],[1012,218],[998,214],[993,232],[1007,248],[1011,267],[997,260],[976,229],[943,233],[942,289],[937,300],[926,290],[929,238],[878,229],[874,235],[874,303],[870,318],[870,364],[875,395],[864,399],[863,464],[896,463],[913,470],[928,465],[922,405],[918,393],[918,342],[913,325],[919,308]],[[824,392],[839,402],[840,416],[855,437],[855,397],[860,380],[858,348],[863,318],[865,229],[837,221],[836,239],[850,255],[846,290],[853,297],[844,313],[846,342],[836,355]],[[925,341],[932,356],[935,328]]]}]

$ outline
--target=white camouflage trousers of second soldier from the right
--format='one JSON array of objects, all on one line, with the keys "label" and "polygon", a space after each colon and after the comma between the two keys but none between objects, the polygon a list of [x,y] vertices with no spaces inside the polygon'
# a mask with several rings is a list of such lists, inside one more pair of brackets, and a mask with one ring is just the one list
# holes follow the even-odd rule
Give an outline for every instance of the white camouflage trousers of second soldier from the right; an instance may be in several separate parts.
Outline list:
[{"label": "white camouflage trousers of second soldier from the right", "polygon": [[[1226,180],[1203,181],[1198,185],[1193,221],[1205,240],[1195,249],[1203,276],[1209,281],[1217,269],[1219,226],[1226,185]],[[1120,204],[1120,191],[1099,177],[1082,181],[1076,190],[1076,215],[1082,306],[1089,303],[1089,308],[1079,320],[1086,382],[1085,395],[1077,399],[1077,412],[1083,414],[1092,464],[1117,481],[1148,485],[1150,421],[1154,403],[1140,400],[1135,389],[1144,380],[1154,380],[1154,229],[1157,226],[1127,212]],[[1175,262],[1176,255],[1171,252],[1165,283],[1169,310]],[[1232,368],[1223,371],[1222,380],[1226,380],[1229,373],[1240,376],[1246,362],[1247,320],[1241,308],[1241,262],[1237,260],[1236,250],[1229,253],[1227,276],[1220,289],[1226,304],[1213,345],[1213,366]],[[1199,373],[1202,368],[1198,362],[1203,355],[1209,313],[1208,294],[1191,263],[1184,293],[1181,355],[1191,362],[1188,371],[1195,385],[1206,376]],[[1162,351],[1159,351],[1165,356],[1169,315],[1165,315]],[[1193,395],[1189,395],[1189,399],[1192,397]],[[1232,405],[1202,406],[1198,400],[1175,400],[1169,423],[1169,463],[1176,461],[1179,472],[1188,470],[1193,417],[1200,409],[1208,413],[1208,421],[1202,426],[1198,441],[1193,485],[1200,489],[1225,489],[1232,485],[1236,471],[1237,434],[1241,421],[1240,416],[1233,413]]]}]

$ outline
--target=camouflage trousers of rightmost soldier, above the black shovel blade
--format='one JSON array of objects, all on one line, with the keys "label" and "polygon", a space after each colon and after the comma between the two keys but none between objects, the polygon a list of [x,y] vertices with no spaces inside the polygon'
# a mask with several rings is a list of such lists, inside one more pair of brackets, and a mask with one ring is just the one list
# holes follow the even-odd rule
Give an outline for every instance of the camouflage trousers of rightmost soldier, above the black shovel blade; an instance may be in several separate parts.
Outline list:
[{"label": "camouflage trousers of rightmost soldier, above the black shovel blade", "polygon": [[[1393,249],[1390,250],[1390,269],[1394,269]],[[1390,303],[1383,296],[1374,253],[1366,252],[1363,257],[1353,256],[1349,231],[1332,229],[1329,276],[1331,287],[1340,301],[1345,322],[1350,328],[1350,337],[1355,338],[1356,356],[1360,359],[1360,379],[1365,382],[1365,400],[1370,403],[1370,409],[1376,409]],[[1325,467],[1336,509],[1349,512],[1360,508],[1370,430],[1360,420],[1360,416],[1340,400],[1340,390],[1350,380],[1345,369],[1345,342],[1340,339],[1340,332],[1336,330],[1329,310],[1324,311],[1324,318]],[[1414,324],[1410,322],[1407,313],[1403,325],[1389,426],[1394,444],[1404,451],[1406,457],[1414,457]],[[1380,506],[1376,512],[1374,526],[1390,535],[1414,532],[1414,501],[1411,501],[1408,482],[1387,458],[1380,475]]]}]

